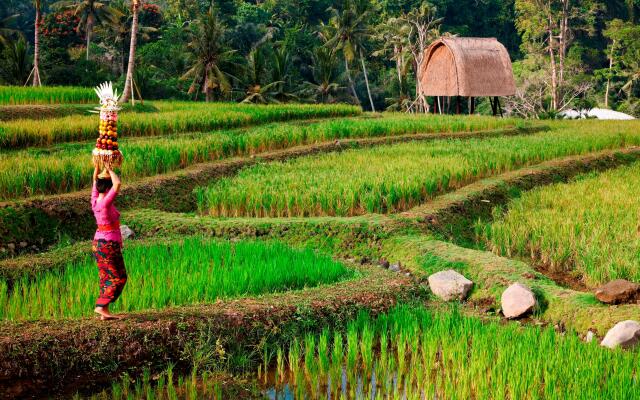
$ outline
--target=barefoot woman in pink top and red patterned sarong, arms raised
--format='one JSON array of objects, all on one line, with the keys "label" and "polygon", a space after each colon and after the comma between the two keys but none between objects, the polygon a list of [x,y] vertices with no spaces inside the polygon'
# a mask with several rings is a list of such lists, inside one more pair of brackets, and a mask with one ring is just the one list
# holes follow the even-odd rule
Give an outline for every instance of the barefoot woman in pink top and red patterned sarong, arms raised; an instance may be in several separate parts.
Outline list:
[{"label": "barefoot woman in pink top and red patterned sarong, arms raised", "polygon": [[94,312],[102,321],[120,318],[109,312],[109,304],[120,297],[127,283],[127,271],[122,259],[120,213],[113,204],[120,191],[120,178],[110,168],[107,171],[109,178],[101,178],[96,167],[91,191],[91,209],[98,223],[93,238],[93,256],[98,263],[100,276],[100,296]]}]

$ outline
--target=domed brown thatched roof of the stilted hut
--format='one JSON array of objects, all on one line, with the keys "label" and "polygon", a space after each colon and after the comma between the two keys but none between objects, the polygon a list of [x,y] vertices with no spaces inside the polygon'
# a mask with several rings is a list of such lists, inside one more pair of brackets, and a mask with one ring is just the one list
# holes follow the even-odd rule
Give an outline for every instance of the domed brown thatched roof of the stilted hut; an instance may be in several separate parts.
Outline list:
[{"label": "domed brown thatched roof of the stilted hut", "polygon": [[511,96],[507,49],[495,38],[443,37],[425,50],[421,86],[427,96]]}]

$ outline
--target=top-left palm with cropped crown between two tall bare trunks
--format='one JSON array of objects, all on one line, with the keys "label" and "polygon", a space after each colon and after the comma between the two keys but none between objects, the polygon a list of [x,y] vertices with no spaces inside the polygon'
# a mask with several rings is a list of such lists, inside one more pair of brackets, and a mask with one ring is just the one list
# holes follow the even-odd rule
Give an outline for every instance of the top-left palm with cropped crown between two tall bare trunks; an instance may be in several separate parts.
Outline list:
[{"label": "top-left palm with cropped crown between two tall bare trunks", "polygon": [[78,29],[84,28],[87,37],[87,60],[93,28],[103,23],[114,24],[120,16],[118,11],[109,7],[109,2],[110,0],[63,0],[53,5],[60,9],[74,10],[74,14],[80,17]]}]

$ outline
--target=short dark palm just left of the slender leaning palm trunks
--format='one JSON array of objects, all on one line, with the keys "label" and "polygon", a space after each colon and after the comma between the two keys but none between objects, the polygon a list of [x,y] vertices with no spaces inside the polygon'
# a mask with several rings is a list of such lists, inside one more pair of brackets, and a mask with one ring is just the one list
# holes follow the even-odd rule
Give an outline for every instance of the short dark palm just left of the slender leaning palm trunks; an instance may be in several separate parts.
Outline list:
[{"label": "short dark palm just left of the slender leaning palm trunks", "polygon": [[306,82],[309,97],[319,103],[333,103],[344,87],[340,86],[336,68],[338,57],[334,49],[317,47],[311,55],[313,82]]}]

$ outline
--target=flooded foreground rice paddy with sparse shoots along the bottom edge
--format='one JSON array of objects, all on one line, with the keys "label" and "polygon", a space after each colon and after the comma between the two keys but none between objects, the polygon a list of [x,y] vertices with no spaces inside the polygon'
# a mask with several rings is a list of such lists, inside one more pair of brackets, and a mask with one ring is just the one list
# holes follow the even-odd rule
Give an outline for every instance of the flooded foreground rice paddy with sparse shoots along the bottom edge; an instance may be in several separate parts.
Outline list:
[{"label": "flooded foreground rice paddy with sparse shoots along the bottom edge", "polygon": [[[360,348],[352,361],[343,336]],[[611,351],[550,327],[486,323],[456,310],[397,306],[376,319],[361,314],[346,335],[307,335],[276,353],[281,361],[267,373],[261,365],[248,383],[267,398],[632,399],[640,391],[637,351]],[[149,375],[135,383],[127,376],[92,398],[222,398],[224,381],[206,371],[176,379],[170,367],[156,384]]]}]

